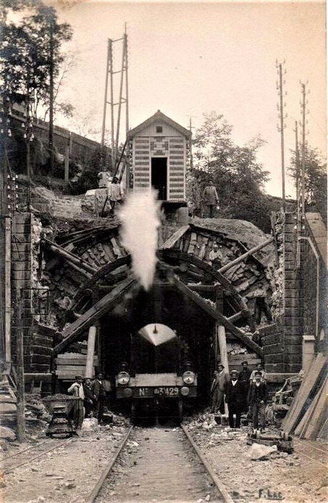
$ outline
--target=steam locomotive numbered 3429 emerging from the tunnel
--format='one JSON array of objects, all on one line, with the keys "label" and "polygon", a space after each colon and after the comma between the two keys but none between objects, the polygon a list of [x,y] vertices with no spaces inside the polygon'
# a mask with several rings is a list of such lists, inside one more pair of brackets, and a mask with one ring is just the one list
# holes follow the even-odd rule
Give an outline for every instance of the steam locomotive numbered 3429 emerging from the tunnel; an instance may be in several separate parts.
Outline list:
[{"label": "steam locomotive numbered 3429 emerging from the tunnel", "polygon": [[130,355],[130,365],[122,362],[116,375],[116,398],[130,402],[132,418],[170,408],[181,419],[186,402],[197,396],[197,376],[190,362],[181,362],[176,332],[150,323],[132,337]]}]

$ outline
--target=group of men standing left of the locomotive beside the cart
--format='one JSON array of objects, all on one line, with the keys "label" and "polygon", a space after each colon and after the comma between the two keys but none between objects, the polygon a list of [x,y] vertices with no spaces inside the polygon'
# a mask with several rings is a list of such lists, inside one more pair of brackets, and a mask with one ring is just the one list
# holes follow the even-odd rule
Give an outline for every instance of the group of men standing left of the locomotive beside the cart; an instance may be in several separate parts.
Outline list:
[{"label": "group of men standing left of the locomotive beside the cart", "polygon": [[84,417],[93,416],[102,423],[103,408],[111,384],[100,372],[95,379],[75,376],[75,382],[68,388],[74,401],[73,424],[76,430],[82,427]]}]

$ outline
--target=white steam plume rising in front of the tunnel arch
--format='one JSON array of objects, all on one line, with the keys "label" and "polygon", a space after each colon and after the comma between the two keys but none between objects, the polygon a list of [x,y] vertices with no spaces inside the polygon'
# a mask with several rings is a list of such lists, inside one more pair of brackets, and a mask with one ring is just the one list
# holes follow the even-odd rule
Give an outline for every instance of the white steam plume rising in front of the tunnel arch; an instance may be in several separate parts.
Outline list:
[{"label": "white steam plume rising in front of the tunnel arch", "polygon": [[155,274],[157,229],[160,225],[156,191],[130,194],[119,217],[122,220],[121,241],[131,253],[133,272],[148,290]]}]

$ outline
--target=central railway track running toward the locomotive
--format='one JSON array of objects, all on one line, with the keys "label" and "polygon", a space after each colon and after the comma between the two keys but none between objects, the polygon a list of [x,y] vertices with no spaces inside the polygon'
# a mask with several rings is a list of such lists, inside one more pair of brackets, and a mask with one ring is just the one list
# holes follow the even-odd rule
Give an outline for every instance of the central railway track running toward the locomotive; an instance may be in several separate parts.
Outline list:
[{"label": "central railway track running toward the locomotive", "polygon": [[188,431],[183,426],[131,427],[83,503],[187,503],[199,499],[234,503]]}]

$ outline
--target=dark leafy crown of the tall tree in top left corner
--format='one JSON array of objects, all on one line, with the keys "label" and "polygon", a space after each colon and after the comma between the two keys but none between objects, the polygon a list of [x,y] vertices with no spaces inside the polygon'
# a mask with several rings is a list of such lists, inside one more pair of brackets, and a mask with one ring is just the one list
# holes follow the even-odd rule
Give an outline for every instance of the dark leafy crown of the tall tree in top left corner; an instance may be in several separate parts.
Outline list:
[{"label": "dark leafy crown of the tall tree in top left corner", "polygon": [[[20,19],[10,20],[10,11],[16,12],[16,18],[20,14]],[[70,40],[72,30],[67,23],[58,24],[56,11],[40,0],[1,0],[0,29],[3,92],[22,95],[27,114],[33,116],[39,104],[48,104],[50,68],[56,79],[64,59],[61,45]]]}]

